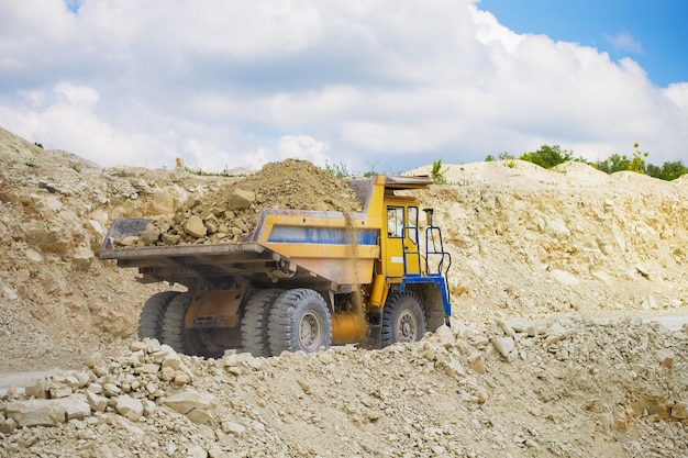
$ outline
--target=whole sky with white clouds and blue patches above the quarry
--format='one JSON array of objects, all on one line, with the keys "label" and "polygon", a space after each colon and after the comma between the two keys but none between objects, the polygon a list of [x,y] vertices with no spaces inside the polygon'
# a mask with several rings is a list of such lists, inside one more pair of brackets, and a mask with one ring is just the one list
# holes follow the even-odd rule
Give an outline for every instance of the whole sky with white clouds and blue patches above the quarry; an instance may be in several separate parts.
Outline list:
[{"label": "whole sky with white clouds and blue patches above the quarry", "polygon": [[685,0],[0,0],[0,126],[103,167],[688,163]]}]

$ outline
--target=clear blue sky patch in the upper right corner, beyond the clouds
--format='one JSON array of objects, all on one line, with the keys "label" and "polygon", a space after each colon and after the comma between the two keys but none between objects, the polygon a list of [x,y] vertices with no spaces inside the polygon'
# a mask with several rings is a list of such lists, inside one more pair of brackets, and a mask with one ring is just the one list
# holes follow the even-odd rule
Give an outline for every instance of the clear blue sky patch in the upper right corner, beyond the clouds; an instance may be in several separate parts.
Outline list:
[{"label": "clear blue sky patch in the upper right corner, beyond the clouds", "polygon": [[688,81],[686,0],[481,0],[479,8],[517,33],[631,57],[655,85]]}]

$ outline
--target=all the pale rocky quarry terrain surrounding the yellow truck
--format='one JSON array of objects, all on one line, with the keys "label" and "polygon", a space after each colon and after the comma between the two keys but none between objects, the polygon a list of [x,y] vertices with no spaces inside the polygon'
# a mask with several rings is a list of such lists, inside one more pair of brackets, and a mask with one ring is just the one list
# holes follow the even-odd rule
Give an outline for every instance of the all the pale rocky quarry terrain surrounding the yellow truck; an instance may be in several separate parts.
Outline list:
[{"label": "all the pale rocky quarry terrain surrounding the yellow truck", "polygon": [[688,456],[688,328],[643,320],[687,314],[688,180],[446,177],[421,198],[453,256],[451,329],[203,360],[135,342],[170,287],[98,247],[116,216],[170,217],[242,178],[103,169],[0,130],[0,367],[62,369],[0,391],[0,456]]}]

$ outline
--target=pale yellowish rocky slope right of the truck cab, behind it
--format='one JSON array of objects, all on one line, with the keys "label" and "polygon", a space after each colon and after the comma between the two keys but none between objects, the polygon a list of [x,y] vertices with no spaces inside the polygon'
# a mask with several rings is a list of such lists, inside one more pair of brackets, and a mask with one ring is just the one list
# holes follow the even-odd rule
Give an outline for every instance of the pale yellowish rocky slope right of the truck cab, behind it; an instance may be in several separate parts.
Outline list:
[{"label": "pale yellowish rocky slope right of the truck cab, behind it", "polygon": [[[429,168],[415,170],[429,172]],[[688,305],[688,177],[666,182],[580,163],[452,166],[424,202],[452,253],[462,319],[674,313]]]}]

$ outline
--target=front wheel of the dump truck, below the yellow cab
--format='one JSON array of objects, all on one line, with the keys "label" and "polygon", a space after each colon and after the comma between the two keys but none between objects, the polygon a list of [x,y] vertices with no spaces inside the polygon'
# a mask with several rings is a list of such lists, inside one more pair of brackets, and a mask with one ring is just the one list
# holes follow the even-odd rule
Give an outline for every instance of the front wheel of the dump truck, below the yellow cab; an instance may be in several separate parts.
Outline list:
[{"label": "front wheel of the dump truck, below the yellow cab", "polygon": [[428,324],[421,300],[412,291],[395,292],[382,309],[381,345],[417,342],[425,334]]}]

